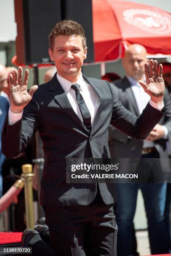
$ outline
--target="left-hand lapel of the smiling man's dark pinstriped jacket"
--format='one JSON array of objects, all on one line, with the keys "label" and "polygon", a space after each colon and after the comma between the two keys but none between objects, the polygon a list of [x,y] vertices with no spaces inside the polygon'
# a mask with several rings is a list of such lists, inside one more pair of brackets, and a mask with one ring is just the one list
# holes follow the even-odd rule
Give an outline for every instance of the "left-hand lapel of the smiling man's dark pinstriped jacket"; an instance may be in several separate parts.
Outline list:
[{"label": "left-hand lapel of the smiling man's dark pinstriped jacket", "polygon": [[78,123],[78,125],[80,125],[86,131],[88,131],[87,128],[85,127],[85,125],[83,124],[83,122],[80,120],[80,118],[78,118],[78,115],[73,110],[73,108],[68,100],[68,97],[67,97],[65,91],[63,90],[63,87],[60,85],[60,83],[58,82],[58,79],[56,78],[56,73],[55,73],[54,77],[52,78],[52,80],[50,81],[49,91],[50,91],[50,94],[53,96],[54,100],[56,102],[58,102],[60,107],[63,108],[63,110],[65,110],[66,113],[73,120],[75,120],[76,123]]}]

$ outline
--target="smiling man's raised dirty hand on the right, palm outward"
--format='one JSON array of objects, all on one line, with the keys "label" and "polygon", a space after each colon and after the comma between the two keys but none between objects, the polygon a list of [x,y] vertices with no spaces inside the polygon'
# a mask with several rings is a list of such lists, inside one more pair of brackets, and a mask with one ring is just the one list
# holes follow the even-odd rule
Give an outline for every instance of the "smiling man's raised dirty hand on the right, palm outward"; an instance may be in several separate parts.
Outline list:
[{"label": "smiling man's raised dirty hand on the right, palm outward", "polygon": [[151,59],[149,64],[148,62],[145,63],[146,83],[143,81],[138,81],[143,87],[144,91],[150,95],[151,100],[160,105],[163,101],[165,88],[162,70],[162,64],[159,65],[159,69],[157,71],[157,61],[153,61],[153,59]]}]

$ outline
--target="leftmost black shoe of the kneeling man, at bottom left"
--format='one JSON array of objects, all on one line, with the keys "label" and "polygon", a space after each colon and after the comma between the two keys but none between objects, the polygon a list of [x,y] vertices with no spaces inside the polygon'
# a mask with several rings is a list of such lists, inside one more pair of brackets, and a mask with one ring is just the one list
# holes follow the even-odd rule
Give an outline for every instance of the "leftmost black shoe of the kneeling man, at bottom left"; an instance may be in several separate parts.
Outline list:
[{"label": "leftmost black shoe of the kneeling man, at bottom left", "polygon": [[[34,239],[32,239],[34,237]],[[22,247],[31,247],[32,243],[30,243],[30,241],[39,241],[42,240],[40,238],[40,234],[38,233],[38,231],[34,230],[34,229],[30,229],[27,228],[23,231],[23,235],[21,238],[21,246]]]}]

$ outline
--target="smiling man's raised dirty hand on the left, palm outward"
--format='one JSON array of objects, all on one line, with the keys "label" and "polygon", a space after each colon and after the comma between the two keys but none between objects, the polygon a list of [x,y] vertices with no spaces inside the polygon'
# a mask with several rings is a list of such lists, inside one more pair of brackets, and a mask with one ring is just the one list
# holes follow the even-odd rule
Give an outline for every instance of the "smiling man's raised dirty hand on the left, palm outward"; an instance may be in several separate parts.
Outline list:
[{"label": "smiling man's raised dirty hand on the left, palm outward", "polygon": [[[26,105],[33,97],[33,93],[38,89],[37,85],[33,85],[29,92],[27,91],[28,84],[28,69],[25,70],[23,79],[23,69],[18,67],[13,74],[9,75],[10,82],[10,109],[13,113],[21,113]],[[22,81],[23,80],[23,81]]]}]

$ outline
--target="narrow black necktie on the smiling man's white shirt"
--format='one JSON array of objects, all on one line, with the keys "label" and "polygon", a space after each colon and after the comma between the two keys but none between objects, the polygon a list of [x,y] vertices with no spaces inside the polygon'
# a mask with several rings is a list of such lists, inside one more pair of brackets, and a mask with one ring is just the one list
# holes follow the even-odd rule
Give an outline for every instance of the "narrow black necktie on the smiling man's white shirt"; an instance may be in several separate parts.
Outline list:
[{"label": "narrow black necktie on the smiling man's white shirt", "polygon": [[80,108],[81,115],[83,117],[83,123],[84,123],[85,127],[88,129],[88,131],[90,131],[91,130],[91,115],[87,108],[87,105],[85,104],[83,96],[79,92],[80,85],[72,84],[71,88],[75,91],[76,100],[77,100],[78,106]]}]

